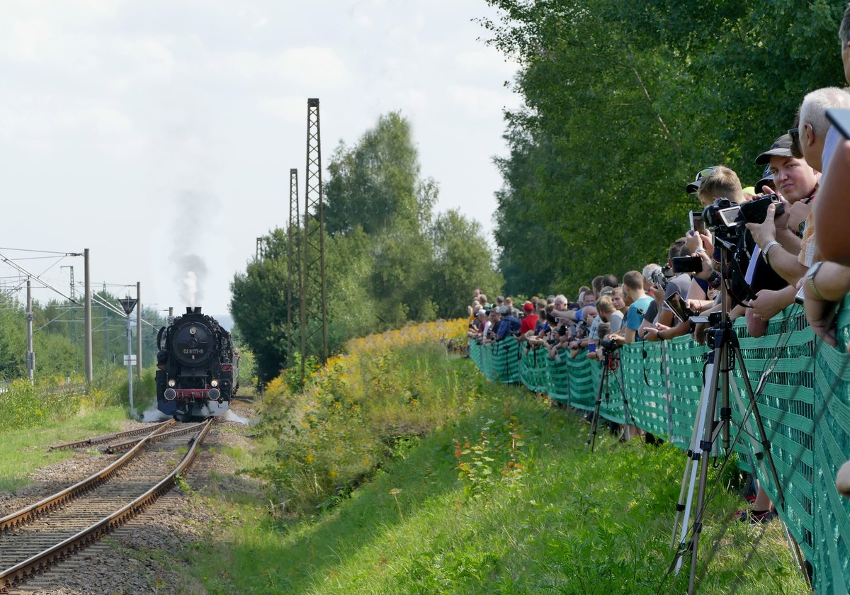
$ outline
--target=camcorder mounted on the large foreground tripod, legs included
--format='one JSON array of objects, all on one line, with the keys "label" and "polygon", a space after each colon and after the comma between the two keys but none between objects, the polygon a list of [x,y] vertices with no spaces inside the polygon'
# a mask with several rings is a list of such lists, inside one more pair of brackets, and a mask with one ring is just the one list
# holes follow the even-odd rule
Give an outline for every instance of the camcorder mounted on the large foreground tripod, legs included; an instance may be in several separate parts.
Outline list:
[{"label": "camcorder mounted on the large foreground tripod, legs included", "polygon": [[[752,292],[746,284],[742,267],[740,266],[741,251],[746,250],[748,232],[746,223],[762,223],[771,203],[777,202],[774,195],[766,195],[756,201],[737,205],[726,198],[715,201],[706,207],[702,218],[715,234],[715,245],[719,248],[717,255],[720,260],[720,311],[711,313],[707,319],[694,319],[694,322],[707,323],[706,343],[711,351],[706,354],[706,371],[700,404],[697,408],[697,420],[691,436],[687,462],[682,479],[682,489],[676,507],[676,520],[673,525],[671,547],[676,548],[672,560],[671,571],[678,574],[682,567],[683,557],[690,553],[690,575],[688,592],[693,593],[696,581],[697,554],[700,534],[703,529],[703,518],[706,512],[706,483],[711,455],[719,454],[718,440],[722,441],[725,456],[731,454],[734,443],[730,443],[730,427],[732,425],[732,407],[730,395],[734,397],[742,419],[738,435],[744,434],[749,440],[754,460],[751,461],[753,476],[756,467],[761,471],[762,478],[769,478],[779,496],[778,507],[785,510],[785,494],[779,483],[779,475],[774,466],[770,450],[770,440],[762,423],[762,416],[757,405],[757,394],[753,391],[750,377],[747,374],[744,359],[740,351],[738,335],[729,320],[731,308],[730,297],[733,292],[737,301],[741,293],[752,297]],[[777,206],[777,214],[784,212],[784,206]],[[737,258],[736,258],[737,257]],[[745,267],[743,268],[745,270]],[[745,288],[745,289],[744,289]],[[745,394],[749,406],[741,399],[740,390],[730,372],[738,366],[743,380]],[[762,383],[763,383],[762,378]],[[760,383],[761,385],[761,383]],[[750,412],[756,423],[757,434],[753,432]],[[758,436],[758,438],[757,438]],[[694,506],[695,492],[695,506]],[[693,523],[689,524],[693,515]],[[785,529],[785,536],[792,544],[791,551],[797,558],[797,564],[802,563],[802,555],[791,540]]]}]

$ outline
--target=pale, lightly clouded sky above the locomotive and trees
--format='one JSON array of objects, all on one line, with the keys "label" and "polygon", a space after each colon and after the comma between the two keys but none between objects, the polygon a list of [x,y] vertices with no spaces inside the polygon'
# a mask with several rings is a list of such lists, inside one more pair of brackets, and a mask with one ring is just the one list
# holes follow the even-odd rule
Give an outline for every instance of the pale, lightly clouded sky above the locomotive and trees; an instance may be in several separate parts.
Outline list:
[{"label": "pale, lightly clouded sky above the locomotive and trees", "polygon": [[[25,251],[88,247],[96,288],[225,314],[257,238],[286,224],[292,167],[303,200],[313,97],[323,168],[400,111],[438,210],[490,234],[521,99],[486,16],[484,0],[3,0],[0,254],[67,293],[82,258]],[[7,292],[17,275],[0,263]]]}]

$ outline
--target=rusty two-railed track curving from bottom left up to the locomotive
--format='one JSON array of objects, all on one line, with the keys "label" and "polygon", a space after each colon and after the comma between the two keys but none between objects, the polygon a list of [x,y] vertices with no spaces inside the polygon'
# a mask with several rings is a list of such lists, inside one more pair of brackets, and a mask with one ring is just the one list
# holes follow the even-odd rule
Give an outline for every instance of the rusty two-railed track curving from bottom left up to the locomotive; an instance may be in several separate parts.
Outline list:
[{"label": "rusty two-railed track curving from bottom left up to the locomotive", "polygon": [[[161,424],[88,479],[0,518],[0,592],[123,524],[170,490],[213,420],[167,431]],[[190,439],[186,433],[193,434]],[[178,449],[189,444],[183,455]],[[155,448],[146,448],[155,444]]]}]

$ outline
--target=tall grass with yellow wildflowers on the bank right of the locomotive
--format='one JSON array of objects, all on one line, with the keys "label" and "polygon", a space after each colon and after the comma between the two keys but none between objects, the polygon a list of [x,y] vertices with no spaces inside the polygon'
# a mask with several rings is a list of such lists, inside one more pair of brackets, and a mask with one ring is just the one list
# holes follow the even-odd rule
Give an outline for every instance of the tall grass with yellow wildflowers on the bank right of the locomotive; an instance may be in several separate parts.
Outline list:
[{"label": "tall grass with yellow wildflowers on the bank right of the locomotive", "polygon": [[278,513],[336,506],[396,450],[468,408],[478,395],[459,389],[438,343],[463,328],[435,322],[357,339],[303,393],[292,394],[285,375],[270,382],[263,430],[275,449],[253,472],[274,484]]}]

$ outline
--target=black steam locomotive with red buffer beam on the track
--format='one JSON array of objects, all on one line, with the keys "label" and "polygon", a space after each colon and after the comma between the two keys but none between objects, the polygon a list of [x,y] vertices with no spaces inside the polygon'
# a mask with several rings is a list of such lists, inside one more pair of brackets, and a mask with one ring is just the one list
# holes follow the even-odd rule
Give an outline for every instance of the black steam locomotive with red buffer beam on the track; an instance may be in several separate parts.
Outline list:
[{"label": "black steam locomotive with red buffer beam on the track", "polygon": [[186,308],[156,336],[156,408],[175,419],[218,416],[239,388],[230,333],[201,308]]}]

